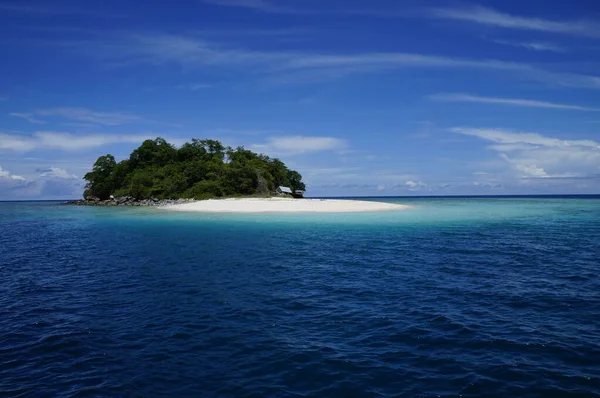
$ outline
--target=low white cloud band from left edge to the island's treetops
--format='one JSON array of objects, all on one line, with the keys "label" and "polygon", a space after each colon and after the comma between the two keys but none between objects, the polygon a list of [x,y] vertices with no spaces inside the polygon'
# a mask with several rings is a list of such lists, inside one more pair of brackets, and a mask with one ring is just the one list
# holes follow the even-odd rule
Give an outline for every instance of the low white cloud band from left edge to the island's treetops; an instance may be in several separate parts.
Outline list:
[{"label": "low white cloud band from left edge to the island's treetops", "polygon": [[39,131],[32,135],[0,133],[0,150],[27,152],[38,149],[75,151],[118,143],[141,143],[156,135],[93,134],[74,135],[54,131]]}]

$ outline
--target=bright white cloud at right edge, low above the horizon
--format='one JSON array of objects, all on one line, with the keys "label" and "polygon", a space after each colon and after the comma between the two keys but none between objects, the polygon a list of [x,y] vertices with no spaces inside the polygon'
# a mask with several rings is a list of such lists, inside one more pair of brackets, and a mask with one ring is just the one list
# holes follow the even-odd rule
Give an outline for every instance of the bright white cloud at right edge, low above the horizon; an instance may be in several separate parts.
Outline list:
[{"label": "bright white cloud at right edge, low above the horizon", "polygon": [[539,133],[503,129],[456,127],[453,133],[492,142],[496,151],[519,178],[575,178],[598,174],[600,143],[563,140]]}]

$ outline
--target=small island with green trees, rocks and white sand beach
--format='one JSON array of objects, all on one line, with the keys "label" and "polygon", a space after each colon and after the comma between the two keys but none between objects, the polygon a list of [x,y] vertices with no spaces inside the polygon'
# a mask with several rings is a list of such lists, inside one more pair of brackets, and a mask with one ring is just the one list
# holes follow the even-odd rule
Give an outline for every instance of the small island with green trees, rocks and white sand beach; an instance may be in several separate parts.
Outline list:
[{"label": "small island with green trees, rocks and white sand beach", "polygon": [[180,148],[158,137],[144,141],[128,159],[100,156],[83,200],[91,206],[160,206],[197,212],[345,212],[406,206],[357,200],[297,200],[302,175],[278,158],[212,139],[192,139]]}]

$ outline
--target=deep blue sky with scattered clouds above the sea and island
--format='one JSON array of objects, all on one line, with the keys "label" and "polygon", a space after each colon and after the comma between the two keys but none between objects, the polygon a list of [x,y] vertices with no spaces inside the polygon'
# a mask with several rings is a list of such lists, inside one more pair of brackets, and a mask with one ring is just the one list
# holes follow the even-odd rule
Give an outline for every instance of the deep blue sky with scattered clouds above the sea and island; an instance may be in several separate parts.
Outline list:
[{"label": "deep blue sky with scattered clouds above the sea and island", "polygon": [[214,138],[311,196],[600,193],[597,1],[0,0],[0,200]]}]

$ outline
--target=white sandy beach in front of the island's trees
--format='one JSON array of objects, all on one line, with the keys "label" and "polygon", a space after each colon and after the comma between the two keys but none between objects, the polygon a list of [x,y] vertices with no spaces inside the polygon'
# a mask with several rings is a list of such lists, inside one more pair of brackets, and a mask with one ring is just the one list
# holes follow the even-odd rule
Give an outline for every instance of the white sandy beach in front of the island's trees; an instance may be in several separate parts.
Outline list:
[{"label": "white sandy beach in front of the island's trees", "polygon": [[351,213],[407,208],[409,206],[362,200],[291,198],[214,199],[164,207],[173,211],[205,213]]}]

